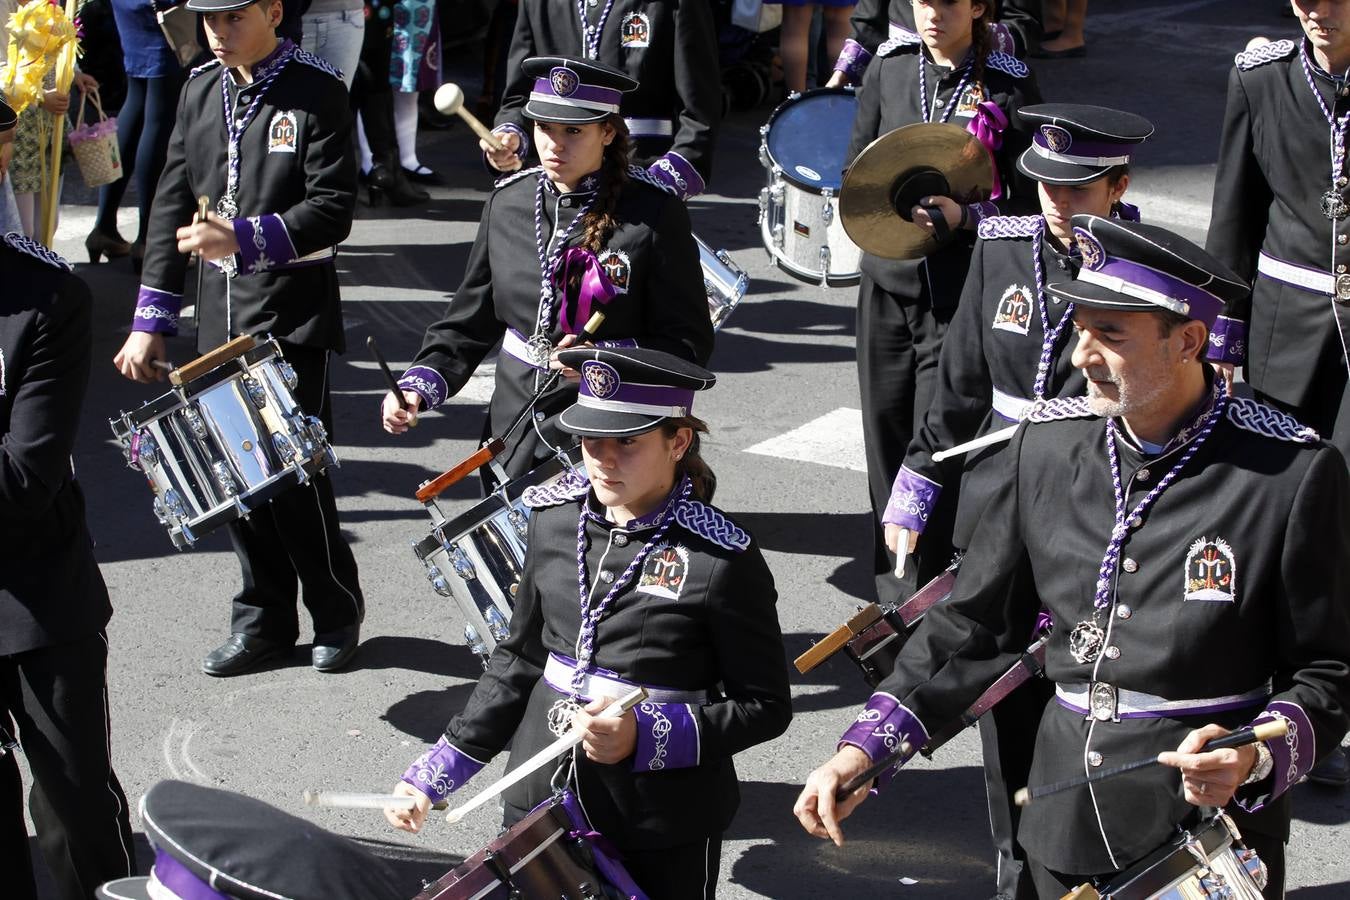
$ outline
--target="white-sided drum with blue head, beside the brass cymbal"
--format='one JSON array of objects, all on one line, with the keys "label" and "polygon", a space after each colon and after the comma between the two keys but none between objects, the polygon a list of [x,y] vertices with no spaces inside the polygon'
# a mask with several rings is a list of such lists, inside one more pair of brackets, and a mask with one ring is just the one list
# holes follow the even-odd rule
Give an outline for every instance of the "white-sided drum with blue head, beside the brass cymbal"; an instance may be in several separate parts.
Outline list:
[{"label": "white-sided drum with blue head, beside the brass cymbal", "polygon": [[760,237],[790,275],[821,285],[856,285],[863,251],[838,217],[857,99],[852,88],[821,88],[788,97],[760,128]]}]

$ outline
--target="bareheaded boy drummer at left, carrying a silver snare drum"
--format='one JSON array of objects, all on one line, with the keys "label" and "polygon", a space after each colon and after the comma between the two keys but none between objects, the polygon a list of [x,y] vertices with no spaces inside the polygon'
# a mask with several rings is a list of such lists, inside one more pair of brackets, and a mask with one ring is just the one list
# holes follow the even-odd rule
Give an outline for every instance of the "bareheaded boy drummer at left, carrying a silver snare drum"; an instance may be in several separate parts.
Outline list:
[{"label": "bareheaded boy drummer at left, carrying a silver snare drum", "polygon": [[[127,378],[163,379],[178,331],[188,256],[213,260],[197,298],[197,349],[271,333],[300,376],[296,399],[332,433],[328,358],[344,349],[336,244],[351,231],[356,166],[347,89],[327,62],[277,36],[281,0],[189,0],[216,59],[192,72],[151,208],[131,335],[113,360]],[[224,138],[224,140],[223,140]],[[197,197],[215,198],[193,221]],[[313,618],[312,663],[343,668],[364,615],[356,560],[319,475],[230,524],[243,569],[231,636],[202,671],[240,675],[289,652],[296,595]]]}]

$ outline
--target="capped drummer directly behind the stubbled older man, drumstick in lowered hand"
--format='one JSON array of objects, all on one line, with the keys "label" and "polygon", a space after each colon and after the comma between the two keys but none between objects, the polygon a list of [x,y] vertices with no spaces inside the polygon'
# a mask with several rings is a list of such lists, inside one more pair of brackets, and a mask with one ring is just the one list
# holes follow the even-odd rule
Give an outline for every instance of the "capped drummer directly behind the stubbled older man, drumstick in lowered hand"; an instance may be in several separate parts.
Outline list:
[{"label": "capped drummer directly behind the stubbled older man, drumstick in lowered hand", "polygon": [[[1017,165],[1037,182],[1041,215],[980,223],[965,290],[942,341],[933,403],[910,441],[883,515],[886,542],[902,565],[944,503],[956,505],[952,544],[969,546],[1006,475],[999,464],[1004,445],[973,451],[964,457],[960,499],[953,501],[944,495],[936,451],[1017,424],[1034,403],[1081,397],[1087,389],[1072,360],[1073,305],[1052,302],[1045,285],[1072,264],[1072,217],[1104,217],[1119,208],[1130,184],[1130,152],[1153,134],[1148,120],[1104,107],[1044,104],[1022,107],[1018,115],[1033,128],[1033,144]],[[1044,681],[1034,680],[980,719],[999,891],[1008,897],[1018,896],[1022,874],[1013,792],[1026,784],[1029,749],[1046,699]]]}]

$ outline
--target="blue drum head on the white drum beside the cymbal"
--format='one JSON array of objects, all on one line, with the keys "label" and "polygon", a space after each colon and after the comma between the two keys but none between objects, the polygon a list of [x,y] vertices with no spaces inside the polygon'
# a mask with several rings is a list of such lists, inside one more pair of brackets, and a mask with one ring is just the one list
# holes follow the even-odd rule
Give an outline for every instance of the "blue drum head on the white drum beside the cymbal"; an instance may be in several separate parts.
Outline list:
[{"label": "blue drum head on the white drum beside the cymbal", "polygon": [[768,120],[764,144],[783,177],[803,190],[838,193],[848,163],[857,97],[850,88],[807,90],[784,101]]}]

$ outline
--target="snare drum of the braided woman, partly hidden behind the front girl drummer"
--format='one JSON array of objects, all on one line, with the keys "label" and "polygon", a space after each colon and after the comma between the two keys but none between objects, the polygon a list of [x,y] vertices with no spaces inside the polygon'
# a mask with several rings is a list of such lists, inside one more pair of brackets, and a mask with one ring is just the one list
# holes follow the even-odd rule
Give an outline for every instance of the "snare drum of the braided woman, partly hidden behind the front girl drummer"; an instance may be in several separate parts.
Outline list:
[{"label": "snare drum of the braided woman, partly hidden behind the front girl drummer", "polygon": [[525,488],[551,484],[579,464],[579,451],[556,456],[452,519],[446,519],[435,499],[427,502],[431,534],[413,544],[427,568],[427,580],[441,596],[455,600],[464,617],[464,642],[487,657],[510,634],[516,590],[525,568],[529,507],[521,502]]}]

